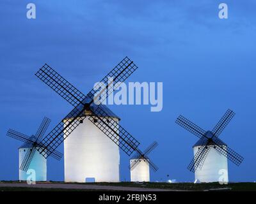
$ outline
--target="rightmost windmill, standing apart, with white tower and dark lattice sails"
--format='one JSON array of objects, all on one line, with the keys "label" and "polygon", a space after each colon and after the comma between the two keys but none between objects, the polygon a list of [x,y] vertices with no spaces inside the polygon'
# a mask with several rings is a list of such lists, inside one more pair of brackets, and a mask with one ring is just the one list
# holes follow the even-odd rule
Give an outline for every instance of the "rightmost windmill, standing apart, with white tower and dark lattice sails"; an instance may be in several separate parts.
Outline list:
[{"label": "rightmost windmill, standing apart, with white tower and dark lattice sails", "polygon": [[193,146],[194,157],[188,166],[188,170],[195,173],[196,181],[228,182],[227,159],[237,166],[242,163],[243,157],[218,138],[234,115],[228,109],[212,131],[205,131],[182,115],[177,118],[177,124],[200,138]]}]

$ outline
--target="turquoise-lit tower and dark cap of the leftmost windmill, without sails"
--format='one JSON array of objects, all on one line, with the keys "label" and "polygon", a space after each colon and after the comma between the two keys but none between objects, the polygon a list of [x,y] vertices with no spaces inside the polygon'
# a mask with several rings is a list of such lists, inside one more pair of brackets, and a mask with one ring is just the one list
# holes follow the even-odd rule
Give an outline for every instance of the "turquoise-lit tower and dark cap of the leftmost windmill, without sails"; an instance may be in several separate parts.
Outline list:
[{"label": "turquoise-lit tower and dark cap of the leftmost windmill, without sails", "polygon": [[[33,144],[25,143],[19,147],[19,167],[22,164],[28,151],[31,151]],[[19,169],[19,180],[46,181],[47,180],[47,159],[37,150],[31,160],[28,171]]]}]

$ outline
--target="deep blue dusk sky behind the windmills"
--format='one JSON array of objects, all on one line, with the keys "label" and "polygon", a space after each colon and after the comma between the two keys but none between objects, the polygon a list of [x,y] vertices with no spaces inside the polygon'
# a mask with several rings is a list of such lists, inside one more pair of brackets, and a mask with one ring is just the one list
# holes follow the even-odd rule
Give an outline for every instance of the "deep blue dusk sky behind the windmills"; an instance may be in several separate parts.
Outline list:
[{"label": "deep blue dusk sky behind the windmills", "polygon": [[[36,19],[26,4],[36,4]],[[193,181],[186,167],[196,136],[175,124],[182,114],[212,129],[227,108],[236,116],[220,138],[244,156],[232,181],[256,180],[255,1],[225,1],[228,19],[218,18],[223,1],[8,1],[0,2],[0,180],[18,179],[20,142],[9,128],[36,132],[42,118],[50,128],[72,106],[35,77],[47,62],[84,93],[126,55],[139,69],[129,82],[163,82],[164,108],[110,106],[121,124],[147,147],[159,166],[152,180]],[[59,149],[63,152],[63,147]],[[122,153],[122,180],[129,179]],[[49,159],[48,179],[63,180],[63,159]]]}]

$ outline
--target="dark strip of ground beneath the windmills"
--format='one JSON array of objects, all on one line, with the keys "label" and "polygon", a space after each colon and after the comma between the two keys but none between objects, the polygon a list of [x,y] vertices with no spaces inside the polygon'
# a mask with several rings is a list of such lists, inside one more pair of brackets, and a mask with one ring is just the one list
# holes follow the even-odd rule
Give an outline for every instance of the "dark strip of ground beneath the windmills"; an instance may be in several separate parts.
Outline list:
[{"label": "dark strip of ground beneath the windmills", "polygon": [[256,183],[239,182],[230,184],[208,183],[152,183],[152,182],[120,182],[120,183],[63,183],[2,181],[0,191],[256,191]]}]

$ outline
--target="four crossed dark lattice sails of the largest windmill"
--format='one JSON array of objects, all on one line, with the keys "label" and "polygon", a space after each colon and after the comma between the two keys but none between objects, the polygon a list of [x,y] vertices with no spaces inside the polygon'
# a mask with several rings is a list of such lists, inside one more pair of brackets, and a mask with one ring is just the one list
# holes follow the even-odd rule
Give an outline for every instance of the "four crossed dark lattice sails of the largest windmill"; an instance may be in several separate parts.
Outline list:
[{"label": "four crossed dark lattice sails of the largest windmill", "polygon": [[[113,78],[114,82],[124,82],[137,68],[138,67],[128,57],[125,57],[101,80],[101,82],[108,84],[109,78]],[[108,112],[105,111],[106,108],[104,106],[97,105],[92,108],[93,98],[98,94],[94,89],[85,96],[47,64],[36,73],[36,77],[49,85],[51,89],[60,94],[68,103],[75,106],[56,128],[44,138],[42,142],[46,145],[45,149],[50,149],[50,151],[56,149],[63,140],[81,124],[81,119],[84,119],[84,111],[86,109],[93,113],[92,116],[89,116],[89,120],[115,142],[116,145],[119,145],[126,154],[130,156],[132,152],[137,149],[138,145],[140,145],[138,140],[132,137],[122,126],[117,124],[117,122],[110,117]],[[106,86],[106,89],[108,86],[109,84]],[[105,92],[105,94],[106,93],[110,94],[111,91]],[[104,117],[108,117],[108,119],[104,119]],[[95,118],[100,122],[94,122]],[[63,121],[65,121],[65,126],[63,125]],[[65,133],[65,136],[63,136],[63,133]],[[41,149],[40,154],[44,157],[48,157],[49,154],[47,154],[45,149]]]}]

